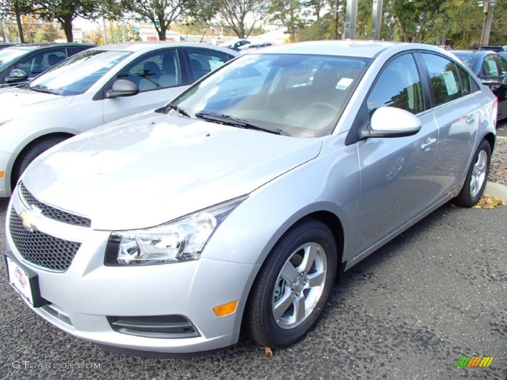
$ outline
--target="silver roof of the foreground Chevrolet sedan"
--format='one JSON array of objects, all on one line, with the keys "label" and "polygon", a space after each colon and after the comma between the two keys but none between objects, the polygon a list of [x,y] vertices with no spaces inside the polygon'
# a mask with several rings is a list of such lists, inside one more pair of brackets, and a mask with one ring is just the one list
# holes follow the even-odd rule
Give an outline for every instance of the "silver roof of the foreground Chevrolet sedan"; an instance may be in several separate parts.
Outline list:
[{"label": "silver roof of the foreground Chevrolet sedan", "polygon": [[443,52],[443,50],[438,47],[425,44],[408,44],[403,42],[386,41],[329,40],[268,46],[263,48],[261,51],[255,50],[245,54],[308,54],[374,58],[383,51],[393,48],[396,50],[405,50],[406,48]]}]

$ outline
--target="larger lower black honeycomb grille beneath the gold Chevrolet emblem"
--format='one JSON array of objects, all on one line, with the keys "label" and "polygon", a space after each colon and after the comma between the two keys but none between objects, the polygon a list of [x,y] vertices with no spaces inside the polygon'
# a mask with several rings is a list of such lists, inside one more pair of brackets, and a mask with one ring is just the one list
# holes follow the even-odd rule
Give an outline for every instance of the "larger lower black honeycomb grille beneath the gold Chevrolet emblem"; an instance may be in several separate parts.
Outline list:
[{"label": "larger lower black honeycomb grille beneath the gold Chevrolet emblem", "polygon": [[55,238],[37,230],[28,231],[14,208],[11,209],[9,232],[19,254],[26,261],[53,271],[66,271],[81,247],[81,243]]}]

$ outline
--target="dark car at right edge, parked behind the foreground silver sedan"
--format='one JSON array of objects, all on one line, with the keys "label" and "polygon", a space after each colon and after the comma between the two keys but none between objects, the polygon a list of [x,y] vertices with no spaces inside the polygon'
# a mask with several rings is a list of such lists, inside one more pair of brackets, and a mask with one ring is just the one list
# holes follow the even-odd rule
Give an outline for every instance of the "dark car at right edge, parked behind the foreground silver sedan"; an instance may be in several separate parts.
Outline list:
[{"label": "dark car at right edge, parked behind the foreground silver sedan", "polygon": [[492,51],[453,50],[498,98],[498,120],[507,118],[507,61]]}]

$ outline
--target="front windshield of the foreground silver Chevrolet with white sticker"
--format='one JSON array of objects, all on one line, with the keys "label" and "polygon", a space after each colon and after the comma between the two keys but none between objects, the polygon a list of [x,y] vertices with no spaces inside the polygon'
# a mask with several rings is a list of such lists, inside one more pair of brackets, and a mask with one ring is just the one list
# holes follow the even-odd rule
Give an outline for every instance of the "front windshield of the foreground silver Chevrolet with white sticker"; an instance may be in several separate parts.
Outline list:
[{"label": "front windshield of the foreground silver Chevrolet with white sticker", "polygon": [[333,132],[369,62],[248,54],[199,82],[171,106],[191,117],[215,122],[220,117],[223,124],[240,120],[294,137],[325,136]]}]

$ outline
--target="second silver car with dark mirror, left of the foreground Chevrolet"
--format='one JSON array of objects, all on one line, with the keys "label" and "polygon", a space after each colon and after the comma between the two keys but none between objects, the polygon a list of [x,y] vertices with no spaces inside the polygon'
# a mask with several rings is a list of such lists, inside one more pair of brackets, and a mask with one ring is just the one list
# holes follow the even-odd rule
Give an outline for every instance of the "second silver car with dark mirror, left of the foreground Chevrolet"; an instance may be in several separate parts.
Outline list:
[{"label": "second silver car with dark mirror, left of the foreground Chevrolet", "polygon": [[237,53],[191,43],[126,43],[81,52],[0,90],[0,197],[28,164],[68,137],[164,105]]}]

